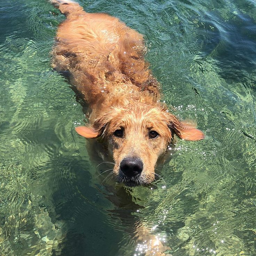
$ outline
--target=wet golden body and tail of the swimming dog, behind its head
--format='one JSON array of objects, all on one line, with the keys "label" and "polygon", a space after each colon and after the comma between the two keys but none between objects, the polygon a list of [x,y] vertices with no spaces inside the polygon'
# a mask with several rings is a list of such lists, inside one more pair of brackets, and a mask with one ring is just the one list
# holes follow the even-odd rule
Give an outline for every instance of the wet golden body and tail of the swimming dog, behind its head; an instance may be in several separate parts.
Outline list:
[{"label": "wet golden body and tail of the swimming dog, behind its head", "polygon": [[78,3],[51,2],[67,17],[57,31],[53,66],[70,72],[72,84],[89,103],[117,91],[158,93],[158,83],[144,60],[141,34],[118,18],[86,13]]}]

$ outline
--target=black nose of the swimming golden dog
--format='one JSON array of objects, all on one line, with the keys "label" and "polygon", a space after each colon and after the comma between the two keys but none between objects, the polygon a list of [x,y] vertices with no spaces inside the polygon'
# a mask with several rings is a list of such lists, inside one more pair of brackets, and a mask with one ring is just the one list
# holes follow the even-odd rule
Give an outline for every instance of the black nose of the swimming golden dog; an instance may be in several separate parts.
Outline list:
[{"label": "black nose of the swimming golden dog", "polygon": [[124,158],[120,163],[120,170],[126,176],[140,175],[143,170],[143,162],[139,158]]}]

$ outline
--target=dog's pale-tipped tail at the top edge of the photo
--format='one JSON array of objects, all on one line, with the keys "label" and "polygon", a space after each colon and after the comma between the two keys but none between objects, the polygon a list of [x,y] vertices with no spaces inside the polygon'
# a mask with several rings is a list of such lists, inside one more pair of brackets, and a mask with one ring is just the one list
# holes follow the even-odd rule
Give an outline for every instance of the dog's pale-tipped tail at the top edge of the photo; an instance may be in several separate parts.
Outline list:
[{"label": "dog's pale-tipped tail at the top edge of the photo", "polygon": [[65,16],[72,14],[79,15],[79,13],[83,12],[82,6],[72,0],[49,0],[49,2]]}]

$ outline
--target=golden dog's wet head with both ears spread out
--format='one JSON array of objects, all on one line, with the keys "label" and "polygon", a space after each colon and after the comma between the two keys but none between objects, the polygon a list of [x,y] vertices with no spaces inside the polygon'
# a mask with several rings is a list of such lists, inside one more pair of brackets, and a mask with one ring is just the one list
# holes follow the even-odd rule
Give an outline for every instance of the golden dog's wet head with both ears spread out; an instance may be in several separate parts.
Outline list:
[{"label": "golden dog's wet head with both ears spread out", "polygon": [[106,138],[117,181],[129,186],[154,180],[156,162],[174,133],[190,141],[204,138],[200,130],[178,121],[166,109],[147,105],[113,108],[95,121],[94,128],[82,126],[76,131],[86,138]]}]

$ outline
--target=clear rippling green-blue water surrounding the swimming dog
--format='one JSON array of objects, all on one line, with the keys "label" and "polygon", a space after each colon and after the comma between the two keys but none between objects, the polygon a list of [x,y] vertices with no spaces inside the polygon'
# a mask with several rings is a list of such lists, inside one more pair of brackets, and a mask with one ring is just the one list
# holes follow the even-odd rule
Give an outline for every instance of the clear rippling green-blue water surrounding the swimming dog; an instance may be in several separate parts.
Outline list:
[{"label": "clear rippling green-blue water surrounding the swimming dog", "polygon": [[166,102],[207,136],[177,141],[166,188],[109,192],[74,131],[82,107],[50,67],[64,16],[43,0],[1,3],[0,255],[134,255],[139,222],[174,256],[255,255],[255,2],[81,3],[145,35]]}]

